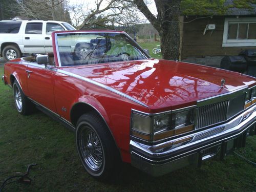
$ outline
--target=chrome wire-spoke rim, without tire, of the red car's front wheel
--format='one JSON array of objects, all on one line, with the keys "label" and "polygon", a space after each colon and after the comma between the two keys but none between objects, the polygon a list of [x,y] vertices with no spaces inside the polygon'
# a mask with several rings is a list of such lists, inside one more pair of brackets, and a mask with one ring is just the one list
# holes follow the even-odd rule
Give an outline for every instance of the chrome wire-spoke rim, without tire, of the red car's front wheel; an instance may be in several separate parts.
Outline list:
[{"label": "chrome wire-spoke rim, without tire, of the red car's front wheel", "polygon": [[102,145],[90,126],[83,125],[81,127],[78,144],[84,163],[96,172],[100,170],[103,164]]}]

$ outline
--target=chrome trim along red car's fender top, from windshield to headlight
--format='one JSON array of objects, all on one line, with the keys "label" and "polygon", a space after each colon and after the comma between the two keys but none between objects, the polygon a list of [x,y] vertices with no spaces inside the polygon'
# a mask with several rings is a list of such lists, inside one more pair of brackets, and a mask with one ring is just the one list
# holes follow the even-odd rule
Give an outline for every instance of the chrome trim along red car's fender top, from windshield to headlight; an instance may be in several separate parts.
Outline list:
[{"label": "chrome trim along red car's fender top, from windshield to headlight", "polygon": [[118,95],[121,95],[121,96],[123,96],[123,97],[125,97],[125,98],[127,98],[127,99],[130,99],[130,100],[132,100],[132,101],[134,101],[134,102],[136,102],[136,103],[138,103],[138,104],[140,104],[140,105],[145,106],[146,108],[148,108],[148,106],[147,106],[146,104],[144,104],[143,102],[141,102],[141,101],[139,101],[139,100],[137,100],[137,99],[135,99],[135,98],[133,98],[133,97],[131,97],[131,96],[129,96],[129,95],[126,95],[125,93],[122,93],[122,92],[120,92],[120,91],[118,91],[118,90],[115,90],[115,89],[113,89],[113,88],[111,88],[111,87],[105,86],[105,84],[99,83],[99,82],[97,82],[97,81],[94,81],[94,80],[89,79],[89,78],[86,78],[86,77],[82,77],[82,76],[80,76],[80,75],[76,75],[76,74],[74,74],[74,73],[70,73],[70,72],[67,72],[67,71],[64,71],[64,70],[60,70],[60,69],[57,69],[57,73],[62,73],[62,74],[65,74],[65,75],[68,75],[68,76],[71,76],[71,77],[75,77],[75,78],[77,78],[77,79],[81,79],[81,80],[83,80],[83,81],[90,82],[90,83],[92,83],[92,84],[95,84],[95,85],[98,86],[98,87],[101,87],[101,88],[103,88],[103,89],[109,90],[109,91],[111,91],[111,92],[113,92],[113,93],[116,93],[116,94],[118,94]]}]

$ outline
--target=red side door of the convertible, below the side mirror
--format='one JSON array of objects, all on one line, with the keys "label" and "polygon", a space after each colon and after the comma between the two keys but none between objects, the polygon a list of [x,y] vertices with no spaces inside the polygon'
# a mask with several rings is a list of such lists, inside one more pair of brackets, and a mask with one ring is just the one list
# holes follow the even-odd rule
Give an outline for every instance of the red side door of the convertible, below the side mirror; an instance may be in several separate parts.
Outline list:
[{"label": "red side door of the convertible, below the side mirror", "polygon": [[30,63],[27,67],[27,84],[29,97],[44,105],[49,110],[56,112],[54,103],[54,66]]}]

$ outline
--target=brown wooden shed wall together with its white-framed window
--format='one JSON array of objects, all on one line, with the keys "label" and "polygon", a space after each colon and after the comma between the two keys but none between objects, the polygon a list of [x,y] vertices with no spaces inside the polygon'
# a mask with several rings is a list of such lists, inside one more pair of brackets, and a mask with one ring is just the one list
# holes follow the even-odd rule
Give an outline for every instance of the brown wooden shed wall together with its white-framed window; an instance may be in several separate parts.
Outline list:
[{"label": "brown wooden shed wall together with its white-framed window", "polygon": [[184,15],[181,23],[181,60],[218,66],[225,55],[256,49],[256,4],[236,8],[233,0],[223,13]]}]

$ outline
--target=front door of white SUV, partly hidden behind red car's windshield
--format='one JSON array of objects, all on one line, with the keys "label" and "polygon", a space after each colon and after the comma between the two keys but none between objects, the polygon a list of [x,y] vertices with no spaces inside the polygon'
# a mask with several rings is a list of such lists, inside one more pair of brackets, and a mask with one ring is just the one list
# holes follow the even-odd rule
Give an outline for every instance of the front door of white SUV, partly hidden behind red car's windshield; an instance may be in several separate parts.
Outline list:
[{"label": "front door of white SUV, partly hidden behind red car's windshield", "polygon": [[44,42],[45,42],[45,50],[47,53],[53,52],[52,50],[52,32],[54,31],[64,31],[65,29],[57,23],[47,22],[46,30],[44,31]]}]

